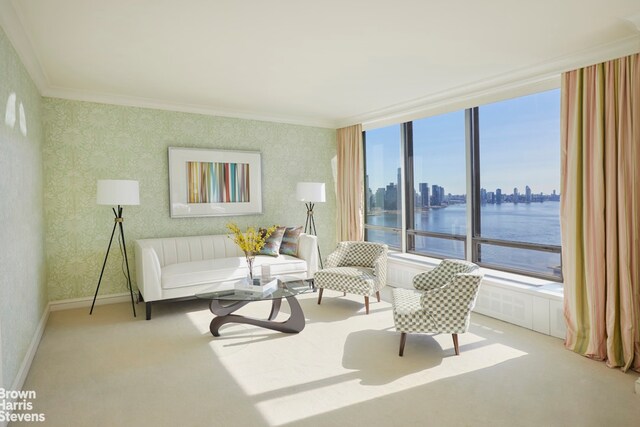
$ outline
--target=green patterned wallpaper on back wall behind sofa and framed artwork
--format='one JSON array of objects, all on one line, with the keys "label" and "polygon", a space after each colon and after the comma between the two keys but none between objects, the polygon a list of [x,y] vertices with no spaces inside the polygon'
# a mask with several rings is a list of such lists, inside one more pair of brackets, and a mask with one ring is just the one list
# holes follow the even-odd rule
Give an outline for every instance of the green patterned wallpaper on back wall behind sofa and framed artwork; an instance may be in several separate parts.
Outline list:
[{"label": "green patterned wallpaper on back wall behind sofa and framed artwork", "polygon": [[[139,238],[225,233],[247,225],[304,225],[295,200],[298,181],[327,184],[316,205],[320,249],[335,246],[332,160],[335,130],[44,98],[45,220],[50,300],[93,296],[113,213],[96,204],[98,179],[140,181],[140,205],[124,208],[125,237],[135,281],[133,241]],[[262,215],[172,219],[168,147],[262,153]],[[122,257],[112,248],[100,295],[126,292]],[[134,285],[135,286],[135,285]]]}]

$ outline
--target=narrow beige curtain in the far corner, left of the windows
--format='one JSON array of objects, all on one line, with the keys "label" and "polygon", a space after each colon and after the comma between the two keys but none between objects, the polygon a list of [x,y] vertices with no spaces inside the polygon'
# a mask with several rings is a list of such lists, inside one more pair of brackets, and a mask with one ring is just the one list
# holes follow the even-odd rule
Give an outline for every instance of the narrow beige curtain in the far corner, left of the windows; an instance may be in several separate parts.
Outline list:
[{"label": "narrow beige curtain in the far corner, left of the windows", "polygon": [[364,184],[362,125],[337,132],[337,227],[339,242],[364,240]]}]

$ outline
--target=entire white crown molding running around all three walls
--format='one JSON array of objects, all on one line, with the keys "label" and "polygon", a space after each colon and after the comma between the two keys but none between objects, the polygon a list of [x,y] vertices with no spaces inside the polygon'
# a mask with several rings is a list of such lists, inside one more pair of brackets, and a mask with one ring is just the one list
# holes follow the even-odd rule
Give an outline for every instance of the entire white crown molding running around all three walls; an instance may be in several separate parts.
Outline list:
[{"label": "entire white crown molding running around all three walls", "polygon": [[[247,120],[259,120],[321,128],[341,128],[362,123],[364,129],[392,123],[413,120],[453,109],[465,108],[478,100],[493,99],[496,96],[518,96],[535,90],[545,90],[559,86],[559,75],[567,70],[619,58],[640,52],[640,34],[634,34],[615,42],[555,58],[530,67],[516,69],[490,78],[446,89],[407,102],[369,111],[338,120],[308,116],[288,116],[265,114],[248,110],[232,110],[205,105],[172,103],[151,98],[81,91],[51,86],[42,67],[39,55],[34,49],[23,20],[13,6],[15,0],[0,0],[0,26],[4,29],[27,72],[42,96],[69,100],[143,107],[168,111],[196,113]],[[640,31],[640,14],[625,18],[630,25]],[[493,99],[498,100],[498,99]],[[488,101],[491,102],[491,101]]]}]

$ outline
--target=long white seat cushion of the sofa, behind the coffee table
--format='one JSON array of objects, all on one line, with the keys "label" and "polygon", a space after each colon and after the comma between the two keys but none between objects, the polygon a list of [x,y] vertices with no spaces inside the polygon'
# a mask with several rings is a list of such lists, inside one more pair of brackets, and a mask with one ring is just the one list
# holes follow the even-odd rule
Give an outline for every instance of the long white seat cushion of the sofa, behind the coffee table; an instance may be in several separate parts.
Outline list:
[{"label": "long white seat cushion of the sofa, behind the coffee table", "polygon": [[[303,259],[280,255],[278,257],[256,256],[254,272],[258,274],[260,266],[271,265],[271,275],[287,275],[305,272],[307,262]],[[174,289],[185,286],[219,283],[239,280],[248,273],[244,257],[230,257],[215,260],[183,262],[162,268],[162,288]]]}]

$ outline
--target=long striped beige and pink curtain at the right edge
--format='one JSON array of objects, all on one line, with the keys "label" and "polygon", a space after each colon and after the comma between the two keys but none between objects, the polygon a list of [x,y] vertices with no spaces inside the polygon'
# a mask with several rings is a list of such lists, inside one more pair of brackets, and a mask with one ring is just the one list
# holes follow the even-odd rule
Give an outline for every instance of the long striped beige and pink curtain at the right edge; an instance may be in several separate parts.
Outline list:
[{"label": "long striped beige and pink curtain at the right edge", "polygon": [[562,78],[567,348],[640,371],[640,54]]}]

